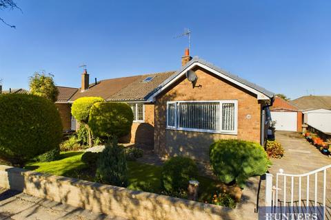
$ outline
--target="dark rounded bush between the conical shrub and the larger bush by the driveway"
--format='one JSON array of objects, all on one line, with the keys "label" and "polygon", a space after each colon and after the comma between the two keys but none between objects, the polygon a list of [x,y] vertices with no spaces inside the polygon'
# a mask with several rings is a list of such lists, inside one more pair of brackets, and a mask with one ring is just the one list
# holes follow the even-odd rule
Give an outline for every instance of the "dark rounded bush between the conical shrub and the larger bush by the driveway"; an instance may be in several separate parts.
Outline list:
[{"label": "dark rounded bush between the conical shrub and the larger bush by the driveway", "polygon": [[181,192],[188,189],[188,181],[198,176],[197,164],[188,157],[172,157],[163,165],[161,186],[165,192]]}]

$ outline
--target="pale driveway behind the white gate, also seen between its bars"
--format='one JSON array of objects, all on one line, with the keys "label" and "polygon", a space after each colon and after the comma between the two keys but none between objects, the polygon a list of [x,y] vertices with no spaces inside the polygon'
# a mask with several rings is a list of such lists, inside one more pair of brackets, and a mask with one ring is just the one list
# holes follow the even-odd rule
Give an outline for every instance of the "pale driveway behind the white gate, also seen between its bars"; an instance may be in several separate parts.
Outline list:
[{"label": "pale driveway behind the white gate, also seen between its bars", "polygon": [[[312,170],[316,170],[323,166],[331,164],[331,157],[321,154],[321,152],[310,144],[305,138],[296,132],[289,131],[277,131],[276,141],[280,142],[285,149],[285,155],[281,159],[272,158],[272,166],[269,168],[269,172],[273,177],[273,186],[276,185],[276,175],[279,173],[279,169],[283,169],[284,173],[288,174],[304,174]],[[291,190],[291,177],[286,179],[286,201],[290,201],[292,194]],[[283,203],[283,176],[279,178],[279,205]],[[307,196],[307,177],[301,177],[301,206],[306,205]],[[309,179],[309,200],[310,206],[312,206],[312,201],[315,197],[314,193],[314,176],[310,176]],[[326,219],[331,219],[331,168],[326,173]],[[294,206],[299,206],[299,177],[294,177]],[[261,206],[264,204],[265,197],[265,181],[261,182],[261,190],[259,194],[259,203]],[[317,200],[323,201],[323,173],[317,175]],[[290,203],[288,204],[290,205]]]}]

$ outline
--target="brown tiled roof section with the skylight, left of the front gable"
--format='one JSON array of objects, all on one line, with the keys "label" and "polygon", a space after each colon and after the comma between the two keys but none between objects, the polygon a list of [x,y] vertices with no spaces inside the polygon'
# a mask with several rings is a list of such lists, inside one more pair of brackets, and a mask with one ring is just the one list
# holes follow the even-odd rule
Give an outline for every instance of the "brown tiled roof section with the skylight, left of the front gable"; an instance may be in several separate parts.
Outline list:
[{"label": "brown tiled roof section with the skylight, left of the front gable", "polygon": [[[164,80],[175,74],[172,72],[161,72],[156,74],[141,75],[123,89],[119,90],[116,94],[113,94],[108,100],[118,101],[130,101],[130,100],[146,100],[146,96],[150,94],[155,88],[157,88]],[[154,77],[149,82],[143,82],[148,77]]]}]

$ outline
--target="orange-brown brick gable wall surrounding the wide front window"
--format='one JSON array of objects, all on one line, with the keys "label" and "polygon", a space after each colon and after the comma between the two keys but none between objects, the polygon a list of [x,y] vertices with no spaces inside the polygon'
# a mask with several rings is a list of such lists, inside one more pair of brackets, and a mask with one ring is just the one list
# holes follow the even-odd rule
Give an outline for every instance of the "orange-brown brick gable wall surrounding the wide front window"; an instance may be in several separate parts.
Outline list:
[{"label": "orange-brown brick gable wall surrounding the wide front window", "polygon": [[[241,139],[260,142],[261,104],[256,95],[207,72],[195,69],[198,80],[192,88],[185,77],[157,97],[155,102],[154,151],[160,155],[185,155],[206,160],[208,148],[214,140]],[[173,100],[237,100],[237,135],[173,131],[166,129],[166,103]],[[250,118],[246,118],[250,115]],[[201,158],[199,158],[201,157]]]}]

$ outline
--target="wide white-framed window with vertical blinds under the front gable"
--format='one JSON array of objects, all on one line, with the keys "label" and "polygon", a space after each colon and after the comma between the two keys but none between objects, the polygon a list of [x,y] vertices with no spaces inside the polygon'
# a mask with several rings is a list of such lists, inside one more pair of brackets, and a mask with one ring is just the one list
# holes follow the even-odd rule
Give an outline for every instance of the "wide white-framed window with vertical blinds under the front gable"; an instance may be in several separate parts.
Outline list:
[{"label": "wide white-framed window with vertical blinds under the front gable", "polygon": [[167,102],[167,127],[236,134],[237,109],[237,100]]}]

